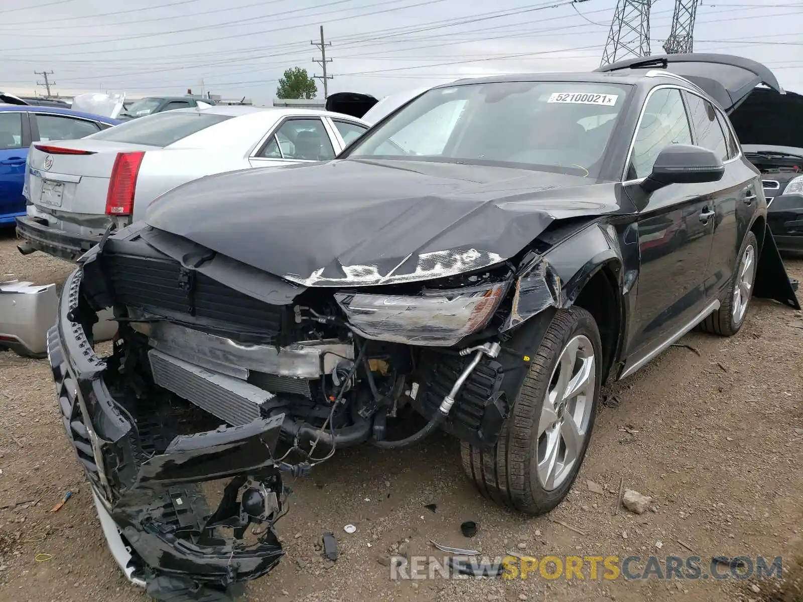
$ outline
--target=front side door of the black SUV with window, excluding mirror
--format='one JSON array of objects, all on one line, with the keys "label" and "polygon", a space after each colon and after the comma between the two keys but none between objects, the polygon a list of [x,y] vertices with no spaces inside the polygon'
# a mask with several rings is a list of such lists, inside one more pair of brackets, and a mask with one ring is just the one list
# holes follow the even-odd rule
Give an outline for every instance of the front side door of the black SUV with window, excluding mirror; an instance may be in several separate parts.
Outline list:
[{"label": "front side door of the black SUV with window, excluding mirror", "polygon": [[[630,152],[629,178],[650,175],[670,144],[691,144],[691,126],[678,87],[656,87],[646,100]],[[705,279],[711,255],[711,184],[671,184],[646,199],[638,215],[638,275],[633,354],[648,355],[689,328],[707,303]]]}]

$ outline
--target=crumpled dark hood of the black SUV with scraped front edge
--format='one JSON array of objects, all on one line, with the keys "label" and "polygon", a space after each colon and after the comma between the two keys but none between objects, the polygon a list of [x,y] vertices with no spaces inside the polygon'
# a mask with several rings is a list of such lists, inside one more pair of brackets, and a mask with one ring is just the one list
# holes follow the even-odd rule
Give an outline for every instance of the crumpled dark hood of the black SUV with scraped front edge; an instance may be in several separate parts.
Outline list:
[{"label": "crumpled dark hood of the black SUV with scraped front edge", "polygon": [[440,278],[491,266],[554,219],[620,210],[613,184],[558,173],[362,161],[222,173],[145,222],[308,287]]}]

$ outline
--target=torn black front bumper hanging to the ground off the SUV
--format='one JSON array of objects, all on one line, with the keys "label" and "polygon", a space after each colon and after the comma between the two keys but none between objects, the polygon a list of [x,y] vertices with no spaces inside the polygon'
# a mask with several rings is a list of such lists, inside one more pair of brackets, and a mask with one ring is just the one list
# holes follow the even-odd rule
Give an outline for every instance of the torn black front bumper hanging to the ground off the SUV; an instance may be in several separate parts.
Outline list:
[{"label": "torn black front bumper hanging to the ground off the SUV", "polygon": [[[160,441],[158,421],[135,420],[110,393],[103,360],[67,318],[78,306],[79,279],[79,271],[67,279],[47,355],[67,437],[120,568],[152,595],[263,576],[283,555],[273,530],[285,494],[273,462],[283,415]],[[201,483],[221,478],[230,482],[210,511]],[[249,527],[259,533],[247,544]]]}]

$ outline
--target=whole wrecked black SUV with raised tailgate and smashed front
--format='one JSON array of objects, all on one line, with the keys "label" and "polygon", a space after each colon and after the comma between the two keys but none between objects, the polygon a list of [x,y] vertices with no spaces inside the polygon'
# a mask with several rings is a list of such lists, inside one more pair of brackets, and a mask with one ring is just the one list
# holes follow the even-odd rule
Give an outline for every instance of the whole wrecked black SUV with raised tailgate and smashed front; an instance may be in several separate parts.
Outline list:
[{"label": "whole wrecked black SUV with raised tailgate and smashed front", "polygon": [[222,600],[283,554],[283,477],[438,429],[483,495],[554,508],[603,384],[736,334],[752,296],[799,308],[727,116],[760,83],[782,93],[728,55],[461,80],[334,161],[204,177],[107,231],[48,355],[126,576]]}]

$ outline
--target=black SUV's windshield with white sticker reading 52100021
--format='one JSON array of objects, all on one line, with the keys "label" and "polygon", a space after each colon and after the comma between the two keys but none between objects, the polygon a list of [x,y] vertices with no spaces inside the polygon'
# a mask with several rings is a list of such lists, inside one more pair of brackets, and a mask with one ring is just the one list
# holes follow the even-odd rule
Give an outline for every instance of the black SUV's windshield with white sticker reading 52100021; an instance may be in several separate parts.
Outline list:
[{"label": "black SUV's windshield with white sticker reading 52100021", "polygon": [[598,177],[630,86],[472,83],[420,96],[349,157],[507,165]]}]

